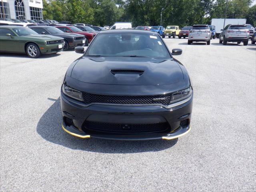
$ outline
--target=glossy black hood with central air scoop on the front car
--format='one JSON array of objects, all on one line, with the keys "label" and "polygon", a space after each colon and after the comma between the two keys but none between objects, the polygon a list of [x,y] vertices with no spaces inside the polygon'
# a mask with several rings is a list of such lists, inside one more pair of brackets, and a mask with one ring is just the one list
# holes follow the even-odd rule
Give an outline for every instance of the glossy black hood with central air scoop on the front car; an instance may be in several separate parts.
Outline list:
[{"label": "glossy black hood with central air scoop on the front car", "polygon": [[179,64],[172,58],[130,57],[82,57],[74,65],[71,77],[80,82],[115,85],[172,84],[184,79]]}]

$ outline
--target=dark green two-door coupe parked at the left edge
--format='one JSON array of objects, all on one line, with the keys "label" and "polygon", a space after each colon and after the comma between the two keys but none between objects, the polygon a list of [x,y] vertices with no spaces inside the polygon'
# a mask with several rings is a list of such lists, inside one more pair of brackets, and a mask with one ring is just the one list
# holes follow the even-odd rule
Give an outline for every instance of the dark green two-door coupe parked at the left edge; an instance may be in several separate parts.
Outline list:
[{"label": "dark green two-door coupe parked at the left edge", "polygon": [[0,26],[0,42],[0,52],[26,53],[31,58],[60,52],[65,44],[63,38],[20,26]]}]

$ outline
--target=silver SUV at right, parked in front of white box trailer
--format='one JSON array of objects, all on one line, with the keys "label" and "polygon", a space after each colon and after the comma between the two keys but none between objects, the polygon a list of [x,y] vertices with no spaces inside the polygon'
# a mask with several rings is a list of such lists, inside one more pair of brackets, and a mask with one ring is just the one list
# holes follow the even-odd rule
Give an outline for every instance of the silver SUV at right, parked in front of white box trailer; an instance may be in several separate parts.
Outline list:
[{"label": "silver SUV at right, parked in front of white box trailer", "polygon": [[244,45],[248,44],[250,31],[248,30],[246,25],[231,25],[228,24],[224,30],[220,34],[219,43],[223,42],[223,45],[226,45],[227,42],[237,42],[240,44],[241,42]]}]

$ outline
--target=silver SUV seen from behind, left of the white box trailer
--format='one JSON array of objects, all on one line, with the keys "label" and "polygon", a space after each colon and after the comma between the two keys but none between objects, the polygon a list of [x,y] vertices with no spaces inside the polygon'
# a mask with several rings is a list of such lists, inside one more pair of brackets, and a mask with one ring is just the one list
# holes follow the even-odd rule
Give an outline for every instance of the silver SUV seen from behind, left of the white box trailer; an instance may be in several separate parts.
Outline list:
[{"label": "silver SUV seen from behind, left of the white box trailer", "polygon": [[188,34],[188,44],[192,42],[207,42],[210,45],[211,31],[208,25],[193,25]]}]

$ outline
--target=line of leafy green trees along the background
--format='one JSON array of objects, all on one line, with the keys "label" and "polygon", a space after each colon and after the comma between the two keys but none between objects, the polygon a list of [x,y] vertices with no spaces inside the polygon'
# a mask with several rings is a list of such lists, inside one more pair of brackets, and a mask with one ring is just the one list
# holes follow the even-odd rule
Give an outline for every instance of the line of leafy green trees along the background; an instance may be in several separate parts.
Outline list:
[{"label": "line of leafy green trees along the background", "polygon": [[133,26],[210,24],[212,18],[246,18],[256,26],[253,0],[43,0],[44,19],[111,26],[129,21]]}]

